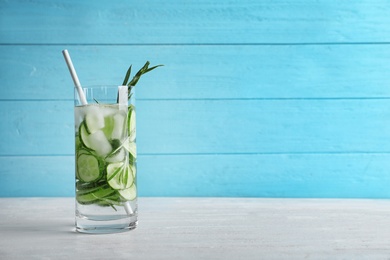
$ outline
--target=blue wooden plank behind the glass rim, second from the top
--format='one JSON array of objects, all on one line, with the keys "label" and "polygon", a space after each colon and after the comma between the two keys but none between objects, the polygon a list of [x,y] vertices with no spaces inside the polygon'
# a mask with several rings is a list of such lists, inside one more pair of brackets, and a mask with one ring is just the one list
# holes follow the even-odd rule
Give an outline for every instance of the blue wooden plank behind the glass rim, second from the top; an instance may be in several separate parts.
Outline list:
[{"label": "blue wooden plank behind the glass rim, second from the top", "polygon": [[368,44],[0,46],[0,98],[73,99],[68,47],[83,85],[121,84],[147,59],[164,64],[141,79],[139,99],[390,97],[390,48]]}]

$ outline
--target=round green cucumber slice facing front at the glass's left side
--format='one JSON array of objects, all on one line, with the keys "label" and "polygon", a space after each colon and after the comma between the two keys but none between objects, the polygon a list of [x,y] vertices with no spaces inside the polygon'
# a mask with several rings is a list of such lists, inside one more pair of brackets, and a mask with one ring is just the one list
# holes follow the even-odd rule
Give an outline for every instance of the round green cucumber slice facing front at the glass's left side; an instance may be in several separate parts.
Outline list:
[{"label": "round green cucumber slice facing front at the glass's left side", "polygon": [[93,182],[101,177],[99,161],[95,156],[82,153],[77,157],[77,176],[83,182]]}]

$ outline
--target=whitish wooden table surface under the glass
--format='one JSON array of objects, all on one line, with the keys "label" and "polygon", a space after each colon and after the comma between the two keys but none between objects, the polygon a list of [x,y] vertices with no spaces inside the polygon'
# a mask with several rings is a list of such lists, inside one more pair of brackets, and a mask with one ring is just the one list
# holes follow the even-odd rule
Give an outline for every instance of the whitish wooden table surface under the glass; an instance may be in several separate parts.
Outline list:
[{"label": "whitish wooden table surface under the glass", "polygon": [[88,235],[73,198],[1,198],[0,259],[390,259],[390,200],[138,203],[137,229]]}]

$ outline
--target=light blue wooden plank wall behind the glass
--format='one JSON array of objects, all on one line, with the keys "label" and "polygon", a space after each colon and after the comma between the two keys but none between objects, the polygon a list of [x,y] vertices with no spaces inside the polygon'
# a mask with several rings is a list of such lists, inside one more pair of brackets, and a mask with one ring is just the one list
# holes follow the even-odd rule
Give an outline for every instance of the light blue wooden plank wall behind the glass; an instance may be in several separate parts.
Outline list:
[{"label": "light blue wooden plank wall behind the glass", "polygon": [[0,0],[0,196],[73,196],[73,86],[137,85],[141,196],[390,198],[387,0]]}]

